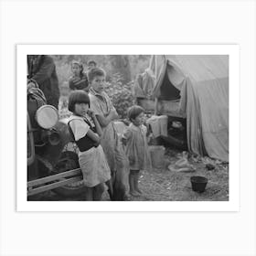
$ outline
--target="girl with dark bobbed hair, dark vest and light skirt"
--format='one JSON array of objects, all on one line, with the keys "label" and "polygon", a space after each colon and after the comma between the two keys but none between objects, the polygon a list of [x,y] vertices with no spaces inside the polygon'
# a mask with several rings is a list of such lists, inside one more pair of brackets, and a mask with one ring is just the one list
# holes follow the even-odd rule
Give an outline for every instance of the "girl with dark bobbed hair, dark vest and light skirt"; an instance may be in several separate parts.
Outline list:
[{"label": "girl with dark bobbed hair, dark vest and light skirt", "polygon": [[[79,147],[79,162],[85,187],[86,200],[101,200],[104,183],[111,179],[110,167],[100,145],[101,126],[94,112],[89,110],[90,98],[85,91],[69,95],[69,132]],[[91,117],[91,121],[88,116]]]}]

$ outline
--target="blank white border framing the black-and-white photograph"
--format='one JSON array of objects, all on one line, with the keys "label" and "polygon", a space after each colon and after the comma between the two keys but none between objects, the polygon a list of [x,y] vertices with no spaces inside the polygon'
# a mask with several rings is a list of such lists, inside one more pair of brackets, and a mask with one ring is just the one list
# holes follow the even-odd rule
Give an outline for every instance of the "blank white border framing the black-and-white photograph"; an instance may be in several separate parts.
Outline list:
[{"label": "blank white border framing the black-and-white photograph", "polygon": [[[229,201],[27,201],[27,55],[229,55]],[[240,48],[238,45],[17,45],[17,211],[239,211]]]}]

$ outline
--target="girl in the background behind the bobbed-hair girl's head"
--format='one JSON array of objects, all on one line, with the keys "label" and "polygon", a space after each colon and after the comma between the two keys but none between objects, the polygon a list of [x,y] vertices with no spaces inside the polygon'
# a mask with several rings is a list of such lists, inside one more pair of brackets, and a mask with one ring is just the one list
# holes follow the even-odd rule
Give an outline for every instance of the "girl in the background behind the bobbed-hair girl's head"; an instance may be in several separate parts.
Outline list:
[{"label": "girl in the background behind the bobbed-hair girl's head", "polygon": [[80,61],[73,60],[71,63],[71,70],[73,75],[69,78],[70,90],[89,91],[89,83],[86,73],[83,72],[83,67]]}]

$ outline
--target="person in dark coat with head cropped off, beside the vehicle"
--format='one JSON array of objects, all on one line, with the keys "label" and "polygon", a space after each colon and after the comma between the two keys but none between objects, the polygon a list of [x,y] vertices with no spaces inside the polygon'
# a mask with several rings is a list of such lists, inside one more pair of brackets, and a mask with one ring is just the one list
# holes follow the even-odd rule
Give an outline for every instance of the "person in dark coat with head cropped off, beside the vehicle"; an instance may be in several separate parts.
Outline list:
[{"label": "person in dark coat with head cropped off, beside the vehicle", "polygon": [[58,109],[59,80],[53,59],[48,55],[28,55],[27,72],[28,81],[36,82],[44,92],[47,103]]}]

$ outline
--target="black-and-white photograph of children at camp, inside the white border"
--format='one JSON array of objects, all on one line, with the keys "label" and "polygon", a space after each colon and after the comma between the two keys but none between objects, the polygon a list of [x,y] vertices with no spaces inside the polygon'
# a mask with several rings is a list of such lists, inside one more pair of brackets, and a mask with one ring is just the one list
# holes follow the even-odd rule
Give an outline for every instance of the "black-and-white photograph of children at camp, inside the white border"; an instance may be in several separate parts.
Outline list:
[{"label": "black-and-white photograph of children at camp, inside the white border", "polygon": [[[18,54],[26,47],[38,48],[17,46]],[[94,46],[108,47],[115,46]],[[27,70],[27,202],[229,204],[236,46],[222,47],[26,59],[23,51],[26,69],[17,69]]]}]

